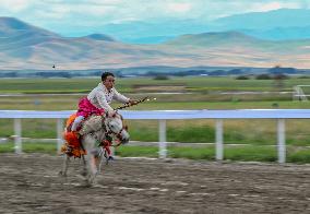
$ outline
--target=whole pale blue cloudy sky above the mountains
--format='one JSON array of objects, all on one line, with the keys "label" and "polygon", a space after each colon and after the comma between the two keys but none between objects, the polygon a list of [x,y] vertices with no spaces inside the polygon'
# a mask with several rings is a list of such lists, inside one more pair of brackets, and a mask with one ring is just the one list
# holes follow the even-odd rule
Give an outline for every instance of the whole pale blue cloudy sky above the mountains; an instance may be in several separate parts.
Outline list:
[{"label": "whole pale blue cloudy sky above the mountains", "polygon": [[208,22],[247,12],[310,9],[310,0],[0,0],[0,16],[11,16],[63,36],[100,32],[128,22]]}]

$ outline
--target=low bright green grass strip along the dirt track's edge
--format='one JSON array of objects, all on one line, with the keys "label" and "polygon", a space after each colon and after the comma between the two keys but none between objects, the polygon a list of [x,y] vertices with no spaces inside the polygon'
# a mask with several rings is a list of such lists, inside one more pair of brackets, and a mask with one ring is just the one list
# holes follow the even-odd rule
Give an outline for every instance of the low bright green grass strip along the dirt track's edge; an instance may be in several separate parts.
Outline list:
[{"label": "low bright green grass strip along the dirt track's edge", "polygon": [[[0,144],[0,153],[14,152],[13,142]],[[23,143],[24,153],[46,153],[55,155],[57,148],[55,143]],[[122,157],[158,157],[158,147],[155,146],[119,146],[115,154]],[[167,157],[169,158],[190,158],[190,159],[207,159],[215,160],[215,148],[212,145],[204,147],[172,147],[167,148]],[[225,160],[238,162],[277,162],[277,152],[274,146],[263,145],[225,145]],[[287,147],[287,163],[310,163],[310,150],[305,147]]]}]

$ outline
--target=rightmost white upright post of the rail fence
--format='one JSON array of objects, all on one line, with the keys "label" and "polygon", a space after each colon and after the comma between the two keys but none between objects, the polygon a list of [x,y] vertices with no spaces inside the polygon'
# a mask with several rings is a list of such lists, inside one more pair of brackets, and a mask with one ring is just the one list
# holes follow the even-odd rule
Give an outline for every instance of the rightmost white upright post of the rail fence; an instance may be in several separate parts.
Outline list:
[{"label": "rightmost white upright post of the rail fence", "polygon": [[284,164],[286,159],[285,146],[285,120],[277,119],[277,158],[279,164]]}]

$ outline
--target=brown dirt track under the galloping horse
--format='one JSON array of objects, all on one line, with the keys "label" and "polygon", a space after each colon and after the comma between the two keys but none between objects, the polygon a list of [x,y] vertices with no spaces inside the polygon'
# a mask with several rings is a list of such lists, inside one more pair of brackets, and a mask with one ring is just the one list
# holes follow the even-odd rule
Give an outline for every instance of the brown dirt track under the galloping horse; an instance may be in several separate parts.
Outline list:
[{"label": "brown dirt track under the galloping horse", "polygon": [[0,154],[0,213],[310,213],[310,166],[118,158],[97,186],[62,157]]}]

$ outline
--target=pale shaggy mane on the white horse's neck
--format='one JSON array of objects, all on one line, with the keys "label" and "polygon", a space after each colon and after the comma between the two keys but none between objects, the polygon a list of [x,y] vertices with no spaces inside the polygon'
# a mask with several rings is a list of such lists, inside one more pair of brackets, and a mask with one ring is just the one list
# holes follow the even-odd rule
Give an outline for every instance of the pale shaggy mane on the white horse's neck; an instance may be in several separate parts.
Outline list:
[{"label": "pale shaggy mane on the white horse's neck", "polygon": [[82,128],[79,131],[81,135],[96,132],[103,129],[104,123],[104,117],[103,116],[91,116],[88,117],[84,122],[82,122]]}]

